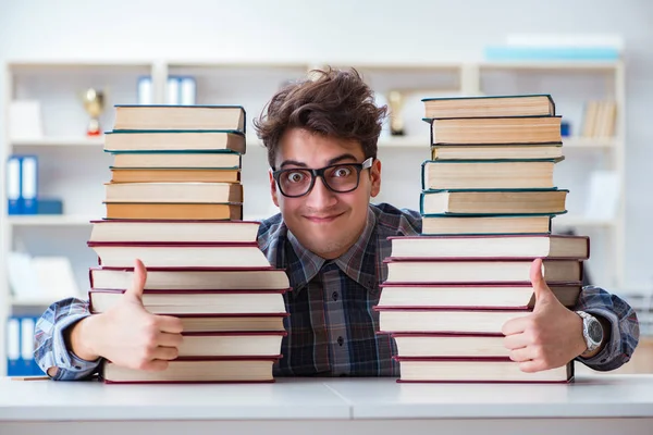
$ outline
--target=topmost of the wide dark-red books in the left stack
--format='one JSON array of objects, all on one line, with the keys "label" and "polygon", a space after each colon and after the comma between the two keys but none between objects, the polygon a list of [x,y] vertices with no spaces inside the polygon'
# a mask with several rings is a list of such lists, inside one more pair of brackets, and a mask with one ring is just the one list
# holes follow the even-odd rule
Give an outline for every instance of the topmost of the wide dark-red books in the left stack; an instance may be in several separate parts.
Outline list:
[{"label": "topmost of the wide dark-red books in the left stack", "polygon": [[256,243],[259,222],[248,221],[90,221],[89,241]]}]

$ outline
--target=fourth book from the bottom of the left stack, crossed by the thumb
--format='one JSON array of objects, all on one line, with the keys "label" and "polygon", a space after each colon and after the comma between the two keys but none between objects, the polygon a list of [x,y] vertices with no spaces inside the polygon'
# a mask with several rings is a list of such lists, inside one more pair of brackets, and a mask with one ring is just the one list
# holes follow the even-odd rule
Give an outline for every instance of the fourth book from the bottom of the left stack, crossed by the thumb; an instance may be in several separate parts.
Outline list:
[{"label": "fourth book from the bottom of the left stack, crossed by the thumb", "polygon": [[[285,289],[268,290],[145,290],[143,306],[152,314],[283,314]],[[119,303],[124,290],[88,293],[90,311],[103,313]]]}]

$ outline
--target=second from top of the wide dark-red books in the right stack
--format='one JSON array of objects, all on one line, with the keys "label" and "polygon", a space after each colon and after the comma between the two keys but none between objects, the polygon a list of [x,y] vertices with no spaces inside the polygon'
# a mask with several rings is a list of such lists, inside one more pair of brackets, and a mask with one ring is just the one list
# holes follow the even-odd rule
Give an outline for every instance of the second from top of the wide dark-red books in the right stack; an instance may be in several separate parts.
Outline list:
[{"label": "second from top of the wide dark-red books in the right stack", "polygon": [[[389,283],[522,283],[529,279],[534,259],[438,259],[384,260]],[[544,279],[554,282],[582,281],[582,262],[578,260],[542,261]]]}]

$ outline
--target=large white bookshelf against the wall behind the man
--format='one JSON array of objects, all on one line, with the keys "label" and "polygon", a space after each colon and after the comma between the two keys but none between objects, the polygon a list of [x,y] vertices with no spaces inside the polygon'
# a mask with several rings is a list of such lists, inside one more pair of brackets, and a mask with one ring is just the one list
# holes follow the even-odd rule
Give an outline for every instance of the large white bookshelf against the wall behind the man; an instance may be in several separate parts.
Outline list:
[{"label": "large white bookshelf against the wall behind the man", "polygon": [[[110,156],[102,152],[102,138],[84,135],[87,114],[78,92],[87,87],[107,91],[106,111],[100,117],[104,129],[113,124],[114,103],[135,103],[140,76],[152,77],[152,101],[164,102],[169,75],[196,78],[197,103],[242,104],[247,110],[248,151],[243,158],[245,219],[262,220],[273,213],[269,198],[267,153],[254,134],[251,120],[263,109],[273,92],[287,80],[305,76],[321,65],[354,66],[372,86],[384,103],[390,90],[405,95],[403,113],[406,136],[393,137],[387,128],[379,141],[383,163],[381,195],[374,201],[398,207],[418,208],[419,166],[429,158],[429,127],[421,121],[421,98],[440,95],[490,95],[550,92],[558,113],[570,120],[578,134],[582,103],[590,98],[609,97],[617,102],[617,136],[588,139],[571,136],[564,140],[566,160],[556,166],[558,186],[578,192],[569,197],[567,215],[555,219],[556,229],[574,228],[592,237],[592,258],[588,268],[596,284],[613,291],[624,287],[626,94],[621,62],[424,62],[361,63],[297,62],[243,63],[204,60],[147,60],[85,62],[14,62],[5,65],[4,96],[8,109],[12,99],[38,99],[41,103],[45,136],[35,140],[11,140],[8,133],[0,140],[0,160],[12,153],[39,157],[39,190],[47,197],[64,201],[63,215],[8,216],[7,201],[0,201],[0,257],[12,249],[33,254],[62,254],[71,258],[82,290],[88,288],[87,270],[97,263],[86,247],[93,219],[103,214],[103,183],[110,178]],[[5,110],[5,113],[9,111]],[[8,120],[4,120],[8,121]],[[7,124],[5,124],[7,125]],[[620,204],[615,219],[583,215],[582,199],[588,195],[587,176],[595,167],[617,172]],[[0,165],[4,179],[5,165]],[[615,291],[618,294],[618,291]],[[52,302],[42,298],[21,300],[11,297],[7,264],[0,264],[0,335],[4,337],[5,319],[12,312],[40,313]],[[5,373],[4,348],[0,349],[0,374]]]}]

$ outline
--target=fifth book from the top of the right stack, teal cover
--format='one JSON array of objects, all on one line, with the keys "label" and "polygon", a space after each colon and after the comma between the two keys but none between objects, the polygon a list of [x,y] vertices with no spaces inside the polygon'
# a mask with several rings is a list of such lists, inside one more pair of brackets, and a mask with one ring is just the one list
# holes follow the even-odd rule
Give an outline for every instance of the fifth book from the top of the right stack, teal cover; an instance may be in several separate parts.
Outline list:
[{"label": "fifth book from the top of the right stack, teal cover", "polygon": [[566,189],[431,190],[420,196],[421,214],[560,214]]}]

